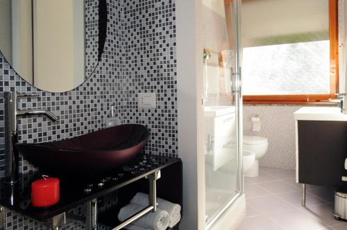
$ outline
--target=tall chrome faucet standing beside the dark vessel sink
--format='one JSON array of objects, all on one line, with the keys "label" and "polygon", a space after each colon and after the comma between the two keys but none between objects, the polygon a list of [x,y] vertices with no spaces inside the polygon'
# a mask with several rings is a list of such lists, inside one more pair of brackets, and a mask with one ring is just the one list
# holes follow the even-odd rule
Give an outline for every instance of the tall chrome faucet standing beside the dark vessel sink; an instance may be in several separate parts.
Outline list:
[{"label": "tall chrome faucet standing beside the dark vessel sink", "polygon": [[43,109],[19,110],[17,100],[20,98],[36,98],[40,94],[20,94],[15,91],[3,92],[5,117],[5,177],[6,183],[15,184],[18,177],[18,152],[15,150],[17,136],[17,116],[44,115],[51,121],[57,121],[58,116]]}]

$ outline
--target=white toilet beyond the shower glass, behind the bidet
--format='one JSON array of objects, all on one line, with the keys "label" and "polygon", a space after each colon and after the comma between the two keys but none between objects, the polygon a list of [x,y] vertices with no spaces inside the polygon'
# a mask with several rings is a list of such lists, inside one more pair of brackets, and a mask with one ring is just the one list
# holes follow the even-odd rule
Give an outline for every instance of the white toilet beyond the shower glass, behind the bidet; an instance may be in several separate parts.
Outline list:
[{"label": "white toilet beyond the shower glass, behind the bidet", "polygon": [[257,177],[259,175],[259,159],[266,153],[268,141],[262,136],[244,136],[242,147],[244,152],[253,152],[255,154],[253,166],[248,170],[244,169],[244,176]]}]

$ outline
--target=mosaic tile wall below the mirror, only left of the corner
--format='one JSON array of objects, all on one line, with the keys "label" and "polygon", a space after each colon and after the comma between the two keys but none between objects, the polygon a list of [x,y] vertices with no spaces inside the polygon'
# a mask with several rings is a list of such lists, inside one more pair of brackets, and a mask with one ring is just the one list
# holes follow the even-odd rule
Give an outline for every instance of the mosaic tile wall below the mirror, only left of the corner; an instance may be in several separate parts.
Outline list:
[{"label": "mosaic tile wall below the mirror, only left of the corner", "polygon": [[[91,6],[95,7],[96,4]],[[103,127],[103,121],[108,115],[111,105],[116,105],[117,112],[122,116],[123,103],[119,98],[123,91],[121,87],[123,78],[121,59],[115,58],[121,53],[121,47],[115,46],[115,42],[121,41],[120,21],[121,3],[108,1],[108,37],[105,44],[102,62],[96,68],[94,75],[88,78],[83,85],[65,93],[49,93],[40,91],[22,80],[10,65],[0,57],[0,92],[20,91],[39,92],[40,98],[22,99],[19,109],[48,109],[59,117],[52,123],[45,117],[31,116],[19,118],[19,141],[26,143],[54,141],[66,139],[99,130]],[[94,9],[95,10],[95,9]],[[117,26],[119,28],[117,28]],[[3,110],[1,95],[0,109]],[[0,116],[0,177],[3,176],[3,113]],[[27,161],[21,161],[19,171],[26,172],[33,166]]]}]

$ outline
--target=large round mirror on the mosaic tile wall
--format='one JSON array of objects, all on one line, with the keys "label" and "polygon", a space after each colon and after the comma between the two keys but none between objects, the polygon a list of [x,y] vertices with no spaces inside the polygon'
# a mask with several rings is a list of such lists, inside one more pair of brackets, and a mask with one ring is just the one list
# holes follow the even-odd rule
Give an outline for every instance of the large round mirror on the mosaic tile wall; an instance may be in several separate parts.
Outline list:
[{"label": "large round mirror on the mosaic tile wall", "polygon": [[0,1],[0,51],[44,91],[81,85],[99,64],[106,30],[106,0]]}]

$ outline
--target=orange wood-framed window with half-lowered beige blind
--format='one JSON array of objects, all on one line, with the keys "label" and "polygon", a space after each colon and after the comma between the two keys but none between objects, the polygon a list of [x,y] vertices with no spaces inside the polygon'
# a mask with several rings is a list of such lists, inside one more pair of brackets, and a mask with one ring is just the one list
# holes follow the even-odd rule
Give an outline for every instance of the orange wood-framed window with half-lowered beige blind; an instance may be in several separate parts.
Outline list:
[{"label": "orange wood-framed window with half-lowered beige blind", "polygon": [[321,103],[338,91],[337,0],[242,3],[244,103]]}]

